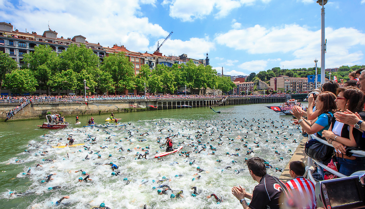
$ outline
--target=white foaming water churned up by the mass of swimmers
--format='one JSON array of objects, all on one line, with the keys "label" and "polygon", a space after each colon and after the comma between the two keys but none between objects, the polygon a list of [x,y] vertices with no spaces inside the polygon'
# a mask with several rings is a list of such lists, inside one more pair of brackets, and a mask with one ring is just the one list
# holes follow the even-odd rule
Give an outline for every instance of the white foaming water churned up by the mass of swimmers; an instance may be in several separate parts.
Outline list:
[{"label": "white foaming water churned up by the mass of swimmers", "polygon": [[[35,198],[29,202],[29,208],[35,209],[47,209],[51,202],[55,203],[65,195],[70,199],[63,200],[61,208],[69,209],[89,209],[101,203],[111,209],[141,209],[145,204],[147,209],[233,209],[241,206],[232,195],[232,187],[242,185],[252,192],[257,185],[247,171],[245,158],[264,158],[273,166],[268,168],[268,174],[279,176],[281,172],[277,169],[285,168],[301,139],[297,128],[284,119],[161,119],[132,122],[119,129],[85,127],[58,130],[41,136],[43,140],[40,142],[30,141],[29,152],[18,156],[22,163],[33,166],[30,175],[17,176],[29,178],[29,188],[19,187],[19,191],[15,192],[35,192]],[[65,145],[71,135],[73,144],[84,144],[85,147],[52,147]],[[160,145],[168,136],[175,136],[172,139],[174,147],[182,143],[183,149],[159,161],[154,156],[157,152],[164,152],[166,146],[160,148]],[[248,151],[253,153],[246,155]],[[138,159],[146,152],[146,159]],[[190,152],[188,157],[185,156],[187,152]],[[9,162],[15,159],[11,158]],[[111,174],[110,162],[119,166],[114,172],[120,172],[120,175]],[[42,167],[36,168],[37,164]],[[197,167],[203,171],[199,173]],[[24,172],[28,169],[24,167]],[[78,182],[79,177],[86,177],[81,172],[75,173],[78,170],[89,174],[92,181]],[[53,180],[42,183],[49,174],[55,174]],[[159,180],[165,181],[160,183]],[[172,191],[158,194],[157,190],[166,188],[158,188],[161,185],[168,185]],[[56,186],[61,188],[48,189]],[[192,187],[196,187],[199,193],[195,197],[191,195]],[[180,191],[183,191],[183,198],[170,198],[171,193],[176,195]],[[213,193],[222,202],[217,202],[213,196],[207,198]],[[16,195],[9,197],[9,192],[1,196],[17,198]]]}]

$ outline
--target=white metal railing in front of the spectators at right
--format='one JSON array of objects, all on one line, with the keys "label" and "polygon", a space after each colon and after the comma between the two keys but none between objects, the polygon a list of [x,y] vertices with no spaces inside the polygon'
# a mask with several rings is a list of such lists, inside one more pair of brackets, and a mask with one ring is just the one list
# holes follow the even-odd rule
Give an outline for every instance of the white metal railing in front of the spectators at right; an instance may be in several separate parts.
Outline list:
[{"label": "white metal railing in front of the spectators at right", "polygon": [[[326,140],[324,139],[320,139],[318,138],[317,136],[315,136],[314,134],[311,134],[311,135],[308,135],[308,140],[310,139],[316,139],[318,140],[319,142],[323,143],[323,144],[326,144],[327,146],[330,146],[330,147],[333,147],[332,144],[329,144]],[[356,155],[359,155],[359,156],[364,156],[365,157],[365,151],[362,151],[362,150],[351,150],[350,151],[351,153],[353,154],[356,154]],[[335,174],[337,175],[338,177],[346,177],[346,175],[344,174],[341,174],[340,172],[338,171],[335,171],[331,168],[329,168],[327,165],[319,162],[318,160],[316,159],[313,159],[311,157],[308,156],[308,166],[306,167],[306,170],[308,172],[308,178],[310,179],[311,182],[313,182],[314,184],[317,183],[317,180],[315,180],[313,178],[313,172],[314,172],[314,167],[313,167],[313,164],[316,163],[317,166],[320,166],[322,167],[323,169],[326,169],[329,173],[331,174]]]}]

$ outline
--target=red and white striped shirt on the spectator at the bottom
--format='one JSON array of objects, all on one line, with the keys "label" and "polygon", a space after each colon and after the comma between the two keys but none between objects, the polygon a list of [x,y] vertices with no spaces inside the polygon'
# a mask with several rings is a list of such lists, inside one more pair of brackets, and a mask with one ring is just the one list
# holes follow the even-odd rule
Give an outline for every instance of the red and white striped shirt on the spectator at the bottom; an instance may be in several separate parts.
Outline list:
[{"label": "red and white striped shirt on the spectator at the bottom", "polygon": [[297,209],[316,209],[314,184],[303,176],[296,177],[285,184],[291,190],[292,203]]}]

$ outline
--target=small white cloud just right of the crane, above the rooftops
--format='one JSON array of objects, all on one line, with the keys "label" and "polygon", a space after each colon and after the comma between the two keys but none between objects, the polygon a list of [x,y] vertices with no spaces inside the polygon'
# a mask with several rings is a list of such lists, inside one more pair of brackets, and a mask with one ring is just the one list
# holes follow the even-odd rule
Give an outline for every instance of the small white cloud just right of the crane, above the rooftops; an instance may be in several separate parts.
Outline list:
[{"label": "small white cloud just right of the crane, above the rooftops", "polygon": [[[180,56],[185,53],[188,57],[193,59],[205,59],[206,52],[210,52],[214,49],[214,42],[211,42],[208,39],[190,38],[187,41],[168,39],[160,49],[160,52],[166,56],[170,54]],[[150,48],[150,51],[152,52],[155,50],[155,47]]]}]

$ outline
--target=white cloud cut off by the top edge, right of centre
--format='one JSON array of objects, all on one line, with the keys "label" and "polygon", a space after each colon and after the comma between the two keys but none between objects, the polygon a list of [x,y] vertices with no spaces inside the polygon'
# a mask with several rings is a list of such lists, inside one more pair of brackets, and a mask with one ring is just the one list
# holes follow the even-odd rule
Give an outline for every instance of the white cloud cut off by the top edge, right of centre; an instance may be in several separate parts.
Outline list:
[{"label": "white cloud cut off by the top edge, right of centre", "polygon": [[233,9],[242,5],[255,5],[256,1],[268,3],[271,0],[164,0],[162,5],[169,5],[170,17],[186,22],[202,19],[215,11],[214,9],[218,10],[215,18],[226,17]]}]

